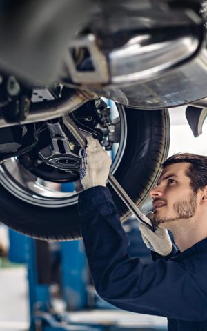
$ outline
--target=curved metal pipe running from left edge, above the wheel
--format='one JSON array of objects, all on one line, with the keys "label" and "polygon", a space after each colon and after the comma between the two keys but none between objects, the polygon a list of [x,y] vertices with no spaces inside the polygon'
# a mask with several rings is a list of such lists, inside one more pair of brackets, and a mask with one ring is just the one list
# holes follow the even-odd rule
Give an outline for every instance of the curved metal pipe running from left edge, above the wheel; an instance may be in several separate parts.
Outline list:
[{"label": "curved metal pipe running from left edge, above the wheel", "polygon": [[73,112],[84,103],[94,98],[95,94],[93,93],[76,91],[75,94],[70,95],[70,97],[67,96],[61,99],[48,101],[47,104],[44,102],[32,103],[30,112],[26,119],[23,121],[8,123],[0,114],[0,128],[16,126],[17,124],[27,124],[48,121],[49,119],[56,119],[57,117],[61,117],[64,114]]}]

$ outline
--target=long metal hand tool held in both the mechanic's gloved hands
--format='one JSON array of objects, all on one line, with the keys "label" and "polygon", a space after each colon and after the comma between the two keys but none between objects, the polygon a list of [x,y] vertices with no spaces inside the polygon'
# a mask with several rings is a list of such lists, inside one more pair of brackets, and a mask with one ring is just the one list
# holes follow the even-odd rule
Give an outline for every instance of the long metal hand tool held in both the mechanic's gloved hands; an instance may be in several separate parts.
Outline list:
[{"label": "long metal hand tool held in both the mechanic's gloved hands", "polygon": [[[63,116],[63,123],[68,128],[68,130],[72,133],[72,135],[75,137],[75,139],[78,141],[80,146],[83,149],[85,149],[86,148],[86,138],[84,137],[81,130],[79,130],[79,128],[76,126],[74,121],[72,121],[70,115]],[[115,179],[115,177],[111,173],[109,173],[109,175],[108,175],[108,182],[110,183],[110,185],[112,185],[112,188],[114,188],[115,192],[117,192],[119,197],[124,201],[124,203],[130,210],[130,212],[132,212],[132,214],[134,214],[135,217],[137,217],[138,221],[141,223],[144,223],[145,225],[148,226],[148,228],[150,228],[150,230],[155,232],[156,228],[152,225],[150,219],[148,219],[148,217],[146,217],[139,210],[137,205],[135,205],[135,203],[132,201],[132,199],[130,199],[128,194],[124,191],[124,189],[121,187],[121,185],[119,184],[117,179]]]}]

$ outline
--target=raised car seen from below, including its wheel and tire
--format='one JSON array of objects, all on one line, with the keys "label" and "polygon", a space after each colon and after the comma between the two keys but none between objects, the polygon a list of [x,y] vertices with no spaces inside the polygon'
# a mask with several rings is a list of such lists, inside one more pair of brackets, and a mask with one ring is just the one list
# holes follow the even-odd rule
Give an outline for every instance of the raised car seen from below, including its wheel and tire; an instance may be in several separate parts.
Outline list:
[{"label": "raised car seen from below, including its wheel and tire", "polygon": [[[168,108],[187,105],[201,134],[206,1],[125,2],[1,4],[0,217],[19,232],[81,235],[81,146],[66,116],[108,151],[137,205],[168,154]],[[130,212],[112,193],[124,221]]]}]

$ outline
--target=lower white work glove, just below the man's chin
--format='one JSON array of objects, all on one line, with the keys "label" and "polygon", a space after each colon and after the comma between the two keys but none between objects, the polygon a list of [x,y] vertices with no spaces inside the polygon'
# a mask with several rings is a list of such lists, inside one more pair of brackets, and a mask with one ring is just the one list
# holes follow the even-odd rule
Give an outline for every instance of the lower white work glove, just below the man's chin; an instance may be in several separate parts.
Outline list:
[{"label": "lower white work glove, just below the man's chin", "polygon": [[[152,217],[152,212],[146,216],[150,219]],[[157,228],[155,232],[153,232],[143,223],[139,223],[139,230],[147,248],[150,248],[150,250],[163,257],[166,257],[172,252],[172,241],[168,234],[168,230]]]}]

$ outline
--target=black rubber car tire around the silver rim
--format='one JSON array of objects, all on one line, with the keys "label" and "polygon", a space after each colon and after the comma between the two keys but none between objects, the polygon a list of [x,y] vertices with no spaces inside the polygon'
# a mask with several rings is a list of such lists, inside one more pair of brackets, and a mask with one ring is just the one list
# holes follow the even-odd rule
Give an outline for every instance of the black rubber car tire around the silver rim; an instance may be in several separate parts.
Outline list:
[{"label": "black rubber car tire around the silver rim", "polygon": [[[141,205],[167,157],[170,121],[168,110],[124,107],[124,111],[128,132],[126,148],[114,175],[133,201]],[[121,221],[125,221],[130,212],[116,192],[110,190]],[[3,185],[0,185],[0,221],[36,239],[61,241],[81,237],[77,204],[62,208],[32,205],[15,197]]]}]

